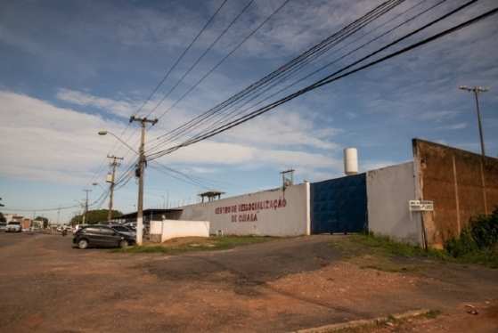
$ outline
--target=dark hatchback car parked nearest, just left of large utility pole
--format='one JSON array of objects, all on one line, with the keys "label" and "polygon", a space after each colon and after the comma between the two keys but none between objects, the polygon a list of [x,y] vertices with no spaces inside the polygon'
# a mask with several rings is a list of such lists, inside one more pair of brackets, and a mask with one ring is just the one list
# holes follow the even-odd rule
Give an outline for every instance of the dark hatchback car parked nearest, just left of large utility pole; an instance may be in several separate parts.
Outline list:
[{"label": "dark hatchback car parked nearest, just left of large utility pole", "polygon": [[128,232],[121,232],[110,228],[108,225],[94,224],[80,227],[74,233],[73,244],[78,248],[127,248],[135,244],[135,236]]}]

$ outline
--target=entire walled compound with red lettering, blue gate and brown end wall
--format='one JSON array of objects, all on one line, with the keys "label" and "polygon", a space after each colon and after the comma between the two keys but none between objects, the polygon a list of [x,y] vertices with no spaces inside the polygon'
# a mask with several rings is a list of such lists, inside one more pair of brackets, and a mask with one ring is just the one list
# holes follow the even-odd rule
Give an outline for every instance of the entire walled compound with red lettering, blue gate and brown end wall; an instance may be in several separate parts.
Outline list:
[{"label": "entire walled compound with red lettering, blue gate and brown end wall", "polygon": [[[211,234],[298,236],[372,231],[442,248],[498,206],[498,159],[419,139],[413,160],[316,183],[148,209],[154,220],[208,221]],[[219,197],[218,197],[219,198]],[[136,218],[136,213],[124,215]]]}]

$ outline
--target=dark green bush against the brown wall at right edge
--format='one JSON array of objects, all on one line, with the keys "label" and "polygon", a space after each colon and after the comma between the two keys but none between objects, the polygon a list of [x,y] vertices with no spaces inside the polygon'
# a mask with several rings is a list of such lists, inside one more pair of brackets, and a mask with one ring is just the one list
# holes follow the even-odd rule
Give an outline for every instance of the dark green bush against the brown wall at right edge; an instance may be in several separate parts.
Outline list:
[{"label": "dark green bush against the brown wall at right edge", "polygon": [[498,207],[472,218],[459,237],[445,242],[445,250],[461,261],[498,268]]}]

